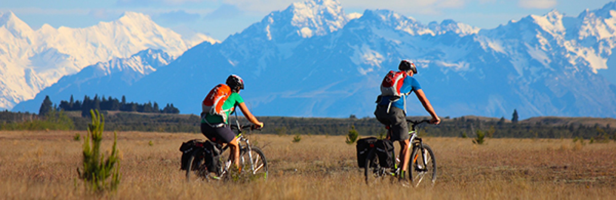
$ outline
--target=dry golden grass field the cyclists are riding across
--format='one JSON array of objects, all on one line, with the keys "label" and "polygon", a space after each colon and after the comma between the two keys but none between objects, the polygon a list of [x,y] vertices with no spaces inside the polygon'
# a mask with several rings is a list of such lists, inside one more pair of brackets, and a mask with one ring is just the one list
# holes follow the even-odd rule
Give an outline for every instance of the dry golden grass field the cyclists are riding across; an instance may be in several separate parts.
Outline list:
[{"label": "dry golden grass field the cyclists are riding across", "polygon": [[[342,136],[302,135],[293,143],[293,135],[251,135],[269,161],[267,180],[188,184],[179,145],[204,137],[151,132],[118,132],[120,186],[92,194],[76,170],[85,134],[1,131],[0,199],[616,199],[614,141],[488,138],[474,145],[471,138],[424,138],[439,178],[431,188],[405,188],[365,185],[355,145]],[[111,140],[105,132],[103,150]]]}]

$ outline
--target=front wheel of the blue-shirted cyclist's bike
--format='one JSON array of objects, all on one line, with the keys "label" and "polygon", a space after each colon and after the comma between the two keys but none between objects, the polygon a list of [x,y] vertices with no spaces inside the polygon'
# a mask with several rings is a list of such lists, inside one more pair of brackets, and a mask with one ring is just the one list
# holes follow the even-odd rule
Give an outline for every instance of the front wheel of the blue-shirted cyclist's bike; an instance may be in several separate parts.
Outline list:
[{"label": "front wheel of the blue-shirted cyclist's bike", "polygon": [[426,144],[413,146],[410,161],[411,164],[408,166],[409,169],[407,171],[413,185],[416,187],[420,185],[434,186],[438,168],[432,148]]}]

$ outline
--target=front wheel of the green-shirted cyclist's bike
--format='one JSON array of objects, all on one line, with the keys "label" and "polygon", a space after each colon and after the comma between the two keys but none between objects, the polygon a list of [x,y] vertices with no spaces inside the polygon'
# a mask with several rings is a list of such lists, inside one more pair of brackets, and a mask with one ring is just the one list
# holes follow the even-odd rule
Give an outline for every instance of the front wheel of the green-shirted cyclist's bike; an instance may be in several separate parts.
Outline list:
[{"label": "front wheel of the green-shirted cyclist's bike", "polygon": [[250,180],[267,179],[267,158],[261,149],[251,147],[250,151],[244,147],[240,150],[240,166],[241,173],[246,175]]}]

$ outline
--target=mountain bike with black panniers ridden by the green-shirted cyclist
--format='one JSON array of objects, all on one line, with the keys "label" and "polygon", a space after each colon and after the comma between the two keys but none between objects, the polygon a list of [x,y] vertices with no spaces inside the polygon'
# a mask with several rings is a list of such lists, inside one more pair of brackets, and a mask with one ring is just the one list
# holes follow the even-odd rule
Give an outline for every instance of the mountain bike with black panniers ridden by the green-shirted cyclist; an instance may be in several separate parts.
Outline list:
[{"label": "mountain bike with black panniers ridden by the green-shirted cyclist", "polygon": [[[229,145],[222,147],[220,144],[214,148],[197,148],[192,156],[188,158],[185,166],[186,180],[230,180],[237,178],[267,178],[267,159],[261,149],[250,144],[250,140],[244,134],[251,130],[259,130],[251,125],[241,126],[230,125],[231,129],[237,131],[238,144],[240,146],[240,166],[232,167],[233,155],[230,153]],[[248,131],[245,131],[248,130]],[[203,146],[203,145],[202,145]],[[214,158],[215,164],[209,163],[207,158]],[[214,169],[208,169],[208,166]],[[235,168],[235,171],[233,169]]]}]

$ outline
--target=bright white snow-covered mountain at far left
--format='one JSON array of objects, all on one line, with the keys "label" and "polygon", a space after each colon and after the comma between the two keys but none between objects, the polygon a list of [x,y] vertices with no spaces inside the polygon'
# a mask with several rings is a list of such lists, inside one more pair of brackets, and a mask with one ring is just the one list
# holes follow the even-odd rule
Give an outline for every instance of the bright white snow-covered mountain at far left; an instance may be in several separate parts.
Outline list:
[{"label": "bright white snow-covered mountain at far left", "polygon": [[85,66],[144,49],[161,49],[177,57],[203,41],[217,42],[203,34],[182,38],[134,12],[88,28],[43,25],[36,31],[12,12],[0,13],[0,109],[33,98]]}]

